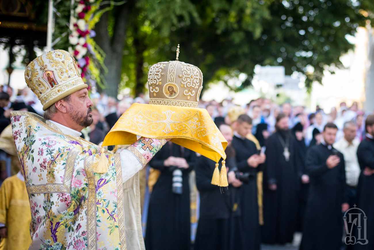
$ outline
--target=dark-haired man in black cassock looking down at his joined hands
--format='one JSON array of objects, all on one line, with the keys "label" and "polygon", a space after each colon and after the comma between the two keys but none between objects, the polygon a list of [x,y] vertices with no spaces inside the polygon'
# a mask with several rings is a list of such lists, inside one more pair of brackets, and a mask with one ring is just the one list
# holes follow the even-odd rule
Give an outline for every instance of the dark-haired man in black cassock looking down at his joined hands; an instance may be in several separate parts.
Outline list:
[{"label": "dark-haired man in black cassock looking down at his joined hands", "polygon": [[[257,155],[257,148],[246,135],[252,130],[252,119],[248,115],[240,115],[233,123],[234,137],[232,145],[236,152],[237,168],[249,173],[249,182],[239,188],[240,208],[242,212],[242,249],[260,249],[260,224],[258,222],[257,171],[259,164],[265,161],[265,155]],[[240,233],[240,232],[238,232]]]}]

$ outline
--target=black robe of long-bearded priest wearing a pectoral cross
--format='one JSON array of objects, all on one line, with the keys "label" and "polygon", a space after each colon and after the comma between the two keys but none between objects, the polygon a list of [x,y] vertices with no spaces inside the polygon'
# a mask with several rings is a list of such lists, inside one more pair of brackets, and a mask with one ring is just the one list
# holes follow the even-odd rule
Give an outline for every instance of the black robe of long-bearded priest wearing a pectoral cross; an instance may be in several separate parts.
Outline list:
[{"label": "black robe of long-bearded priest wearing a pectoral cross", "polygon": [[[289,161],[283,156],[279,132],[270,135],[266,141],[266,162],[264,167],[264,225],[261,239],[267,244],[292,242],[297,219],[298,171],[295,153],[295,138],[288,132]],[[283,138],[287,143],[286,137]],[[272,191],[269,184],[276,184]]]}]

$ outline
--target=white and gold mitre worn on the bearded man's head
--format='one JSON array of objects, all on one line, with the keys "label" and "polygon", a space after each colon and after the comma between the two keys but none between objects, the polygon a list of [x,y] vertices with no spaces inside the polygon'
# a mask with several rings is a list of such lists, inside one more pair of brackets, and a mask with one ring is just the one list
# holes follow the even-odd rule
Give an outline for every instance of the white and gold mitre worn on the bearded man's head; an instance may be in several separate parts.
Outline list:
[{"label": "white and gold mitre worn on the bearded man's head", "polygon": [[67,51],[49,51],[31,61],[25,70],[27,86],[43,104],[43,110],[64,97],[87,88],[78,65]]}]

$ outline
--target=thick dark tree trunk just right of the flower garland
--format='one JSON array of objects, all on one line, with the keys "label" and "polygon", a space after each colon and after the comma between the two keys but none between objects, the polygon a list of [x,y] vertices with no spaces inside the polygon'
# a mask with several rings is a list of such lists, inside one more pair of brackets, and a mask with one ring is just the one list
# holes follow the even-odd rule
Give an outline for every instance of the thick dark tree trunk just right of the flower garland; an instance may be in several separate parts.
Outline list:
[{"label": "thick dark tree trunk just right of the flower garland", "polygon": [[102,71],[106,82],[104,92],[114,98],[117,98],[118,86],[121,81],[123,46],[126,37],[128,16],[133,6],[134,1],[127,1],[120,6],[114,6],[112,12],[114,13],[115,25],[112,37],[108,34],[109,12],[105,12],[101,16],[100,21],[95,27],[95,42],[104,51],[104,64],[108,68],[108,73],[105,74]]}]

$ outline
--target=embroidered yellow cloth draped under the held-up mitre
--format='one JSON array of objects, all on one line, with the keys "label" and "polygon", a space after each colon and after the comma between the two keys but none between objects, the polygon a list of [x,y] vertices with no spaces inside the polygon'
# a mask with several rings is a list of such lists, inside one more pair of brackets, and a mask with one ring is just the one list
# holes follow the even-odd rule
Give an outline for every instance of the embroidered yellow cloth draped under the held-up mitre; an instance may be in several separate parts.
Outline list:
[{"label": "embroidered yellow cloth draped under the held-up mitre", "polygon": [[102,146],[132,144],[137,135],[171,141],[219,161],[227,141],[205,109],[134,103],[108,132]]}]

